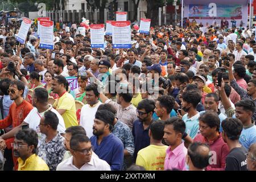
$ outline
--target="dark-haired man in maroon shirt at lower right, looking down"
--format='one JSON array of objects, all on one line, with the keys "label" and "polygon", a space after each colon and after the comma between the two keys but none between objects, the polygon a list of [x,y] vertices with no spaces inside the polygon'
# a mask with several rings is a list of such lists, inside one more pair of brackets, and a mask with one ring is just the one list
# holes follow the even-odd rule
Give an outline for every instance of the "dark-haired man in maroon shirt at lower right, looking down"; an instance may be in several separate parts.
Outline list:
[{"label": "dark-haired man in maroon shirt at lower right, looking down", "polygon": [[194,142],[206,143],[210,147],[210,159],[207,171],[223,171],[226,164],[226,156],[229,154],[228,145],[219,133],[220,119],[218,114],[207,111],[199,118],[200,134],[197,134]]}]

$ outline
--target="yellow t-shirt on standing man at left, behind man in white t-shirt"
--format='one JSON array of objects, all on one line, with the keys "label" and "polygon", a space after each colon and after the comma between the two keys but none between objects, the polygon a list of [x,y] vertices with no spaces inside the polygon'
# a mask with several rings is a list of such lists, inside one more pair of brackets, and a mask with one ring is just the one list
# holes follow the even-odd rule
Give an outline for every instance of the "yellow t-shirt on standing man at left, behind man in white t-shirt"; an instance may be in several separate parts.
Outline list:
[{"label": "yellow t-shirt on standing man at left, behind man in white t-shirt", "polygon": [[76,104],[75,99],[68,92],[64,93],[63,96],[57,98],[53,104],[53,107],[58,109],[65,109],[65,113],[62,114],[66,129],[71,126],[78,126],[76,118]]}]

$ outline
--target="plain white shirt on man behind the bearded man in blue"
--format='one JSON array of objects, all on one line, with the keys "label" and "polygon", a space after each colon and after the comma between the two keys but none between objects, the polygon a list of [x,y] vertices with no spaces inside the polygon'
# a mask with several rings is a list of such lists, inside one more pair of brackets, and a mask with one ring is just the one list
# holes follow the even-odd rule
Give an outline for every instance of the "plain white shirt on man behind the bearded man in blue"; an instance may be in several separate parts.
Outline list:
[{"label": "plain white shirt on man behind the bearded man in blue", "polygon": [[89,104],[82,106],[79,125],[84,127],[86,131],[86,135],[89,138],[93,136],[92,128],[93,128],[94,118],[98,110],[98,106],[100,106],[101,104],[102,102],[99,101],[97,104],[93,105],[93,107],[91,107]]}]

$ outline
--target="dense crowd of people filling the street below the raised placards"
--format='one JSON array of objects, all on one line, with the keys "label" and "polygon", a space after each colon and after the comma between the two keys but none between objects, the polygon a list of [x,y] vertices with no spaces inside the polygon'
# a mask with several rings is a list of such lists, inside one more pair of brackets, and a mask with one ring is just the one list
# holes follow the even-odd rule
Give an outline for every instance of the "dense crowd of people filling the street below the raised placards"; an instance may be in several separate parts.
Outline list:
[{"label": "dense crowd of people filling the street below the raised placards", "polygon": [[256,170],[253,30],[131,27],[117,49],[110,35],[91,48],[77,27],[57,24],[51,50],[36,24],[24,44],[2,24],[0,168]]}]

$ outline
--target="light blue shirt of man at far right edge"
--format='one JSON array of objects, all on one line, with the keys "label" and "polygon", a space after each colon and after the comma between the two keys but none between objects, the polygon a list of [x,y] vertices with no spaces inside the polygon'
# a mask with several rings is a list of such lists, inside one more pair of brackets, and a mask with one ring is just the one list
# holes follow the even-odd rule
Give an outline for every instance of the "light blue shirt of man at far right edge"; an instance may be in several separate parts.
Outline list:
[{"label": "light blue shirt of man at far right edge", "polygon": [[246,150],[249,149],[250,145],[256,142],[256,126],[244,127],[239,138],[239,142]]}]

